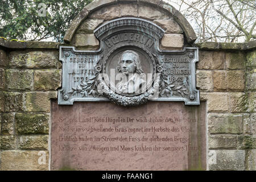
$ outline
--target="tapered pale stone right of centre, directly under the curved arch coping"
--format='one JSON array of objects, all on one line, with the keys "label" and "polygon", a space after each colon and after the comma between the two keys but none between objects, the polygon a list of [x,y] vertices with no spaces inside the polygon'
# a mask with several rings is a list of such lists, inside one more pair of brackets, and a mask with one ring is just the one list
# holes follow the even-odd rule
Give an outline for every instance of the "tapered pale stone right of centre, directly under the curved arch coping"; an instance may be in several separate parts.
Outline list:
[{"label": "tapered pale stone right of centre, directly under the curved arch coping", "polygon": [[139,18],[146,18],[146,19],[170,18],[166,13],[152,6],[139,5],[138,13],[139,13],[138,14]]}]

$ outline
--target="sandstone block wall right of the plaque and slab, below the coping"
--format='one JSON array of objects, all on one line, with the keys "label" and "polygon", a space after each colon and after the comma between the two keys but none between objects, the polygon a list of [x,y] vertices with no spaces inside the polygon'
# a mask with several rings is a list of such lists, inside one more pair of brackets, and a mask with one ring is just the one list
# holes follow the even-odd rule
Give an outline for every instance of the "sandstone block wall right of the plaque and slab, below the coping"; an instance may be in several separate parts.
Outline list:
[{"label": "sandstone block wall right of the plaque and slab, below the coping", "polygon": [[209,170],[254,170],[255,53],[199,52],[197,86],[207,101]]}]

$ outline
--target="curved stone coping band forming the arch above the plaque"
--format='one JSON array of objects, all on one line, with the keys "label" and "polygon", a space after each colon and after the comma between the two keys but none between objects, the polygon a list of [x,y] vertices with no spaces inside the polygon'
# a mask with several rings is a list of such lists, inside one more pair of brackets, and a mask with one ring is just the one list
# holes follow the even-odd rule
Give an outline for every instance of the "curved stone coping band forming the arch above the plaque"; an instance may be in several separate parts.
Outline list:
[{"label": "curved stone coping band forming the arch above the plaque", "polygon": [[165,11],[167,14],[170,14],[170,16],[172,16],[174,20],[179,24],[179,26],[183,29],[184,36],[187,39],[187,42],[195,42],[195,31],[193,30],[187,19],[185,19],[185,17],[173,6],[162,0],[94,0],[92,3],[85,6],[84,9],[75,17],[75,19],[73,19],[68,30],[65,32],[64,41],[71,42],[77,28],[79,28],[80,24],[88,17],[88,15],[92,14],[94,11],[97,11],[102,7],[106,7],[109,5],[127,2],[142,3],[144,5],[157,7],[159,10]]}]

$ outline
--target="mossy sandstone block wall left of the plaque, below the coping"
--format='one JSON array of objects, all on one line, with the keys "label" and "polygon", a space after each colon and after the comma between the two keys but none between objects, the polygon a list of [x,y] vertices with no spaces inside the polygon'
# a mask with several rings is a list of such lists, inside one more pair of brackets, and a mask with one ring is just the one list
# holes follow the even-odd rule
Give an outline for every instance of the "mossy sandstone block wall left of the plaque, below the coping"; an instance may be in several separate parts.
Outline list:
[{"label": "mossy sandstone block wall left of the plaque, below the coping", "polygon": [[57,98],[61,86],[58,51],[0,53],[0,170],[48,170],[50,99]]}]

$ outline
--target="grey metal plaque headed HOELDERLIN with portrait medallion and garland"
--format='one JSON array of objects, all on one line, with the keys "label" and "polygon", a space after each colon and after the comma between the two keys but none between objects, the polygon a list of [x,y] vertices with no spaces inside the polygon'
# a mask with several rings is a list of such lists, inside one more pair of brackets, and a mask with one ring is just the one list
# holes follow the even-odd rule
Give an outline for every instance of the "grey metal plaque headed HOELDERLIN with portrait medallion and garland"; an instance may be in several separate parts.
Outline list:
[{"label": "grey metal plaque headed HOELDERLIN with portrait medallion and garland", "polygon": [[199,105],[195,63],[198,49],[159,49],[164,30],[139,18],[119,18],[94,31],[98,51],[60,46],[63,85],[58,103],[112,101],[136,106],[152,101],[184,101]]}]

